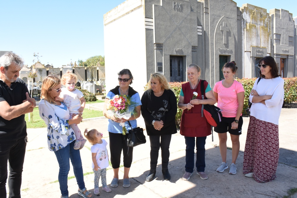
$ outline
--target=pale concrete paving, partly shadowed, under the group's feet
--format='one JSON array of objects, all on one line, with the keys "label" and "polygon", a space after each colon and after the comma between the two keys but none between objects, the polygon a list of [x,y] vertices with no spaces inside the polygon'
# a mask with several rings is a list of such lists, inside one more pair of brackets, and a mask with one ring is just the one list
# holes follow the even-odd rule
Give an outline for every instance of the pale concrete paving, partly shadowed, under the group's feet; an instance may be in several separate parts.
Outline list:
[{"label": "pale concrete paving, partly shadowed, under the group's feet", "polygon": [[[102,108],[99,103],[99,109]],[[244,118],[243,133],[240,137],[241,147],[237,159],[237,174],[230,175],[228,170],[223,173],[216,171],[221,163],[219,153],[219,141],[217,134],[214,133],[214,142],[211,135],[207,137],[206,143],[206,173],[208,180],[201,180],[195,174],[189,181],[181,179],[184,174],[185,166],[185,143],[184,137],[179,132],[172,136],[170,144],[169,170],[171,180],[165,181],[161,173],[161,156],[159,156],[156,178],[151,182],[146,182],[146,175],[150,167],[150,146],[149,138],[147,143],[137,146],[133,152],[133,164],[129,173],[131,186],[122,186],[123,167],[120,168],[119,186],[111,188],[110,193],[102,191],[101,183],[100,195],[103,197],[281,197],[287,195],[290,188],[296,188],[297,183],[297,148],[296,148],[296,128],[297,112],[294,109],[282,109],[279,122],[280,157],[277,167],[276,180],[268,183],[257,183],[253,178],[246,178],[242,173],[244,145],[247,134],[249,118]],[[138,119],[138,125],[144,127],[143,119]],[[105,140],[109,143],[107,132],[107,119],[84,120],[79,125],[80,129],[96,128],[103,133]],[[60,197],[58,171],[59,166],[52,151],[47,148],[46,130],[28,129],[29,143],[24,163],[22,197]],[[230,137],[230,136],[228,136]],[[230,138],[227,146],[231,147]],[[94,190],[94,174],[91,168],[91,145],[80,150],[83,161],[83,171],[86,173],[84,180],[87,189]],[[109,150],[109,148],[108,148]],[[231,163],[231,150],[227,150],[227,162]],[[159,153],[161,155],[161,153]],[[110,167],[109,167],[110,168]],[[73,176],[70,170],[69,176]],[[113,170],[107,171],[107,183],[110,184],[113,178]],[[68,180],[69,197],[78,198],[75,178]],[[94,195],[94,197],[97,197]],[[127,196],[126,196],[127,197]]]}]

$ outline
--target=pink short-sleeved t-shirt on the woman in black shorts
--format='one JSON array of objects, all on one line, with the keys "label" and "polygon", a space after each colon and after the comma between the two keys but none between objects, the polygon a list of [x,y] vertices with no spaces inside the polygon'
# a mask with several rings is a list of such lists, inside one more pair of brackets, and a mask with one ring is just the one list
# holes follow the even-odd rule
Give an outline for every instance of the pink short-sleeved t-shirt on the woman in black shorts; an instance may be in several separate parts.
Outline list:
[{"label": "pink short-sleeved t-shirt on the woman in black shorts", "polygon": [[242,84],[234,80],[231,87],[226,88],[223,86],[222,81],[219,81],[214,85],[214,92],[218,93],[217,106],[222,109],[223,117],[236,117],[238,108],[237,94],[244,92]]}]

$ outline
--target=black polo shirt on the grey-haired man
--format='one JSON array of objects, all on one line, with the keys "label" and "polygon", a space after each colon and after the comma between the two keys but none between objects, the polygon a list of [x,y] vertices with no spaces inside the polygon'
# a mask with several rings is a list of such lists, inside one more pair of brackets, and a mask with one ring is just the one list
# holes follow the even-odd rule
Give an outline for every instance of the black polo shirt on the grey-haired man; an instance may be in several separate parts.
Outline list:
[{"label": "black polo shirt on the grey-haired man", "polygon": [[[19,105],[23,103],[23,100],[26,100],[26,92],[29,93],[23,80],[17,78],[9,88],[0,79],[0,101],[5,100],[10,106]],[[24,114],[11,120],[0,116],[0,141],[18,140],[26,135],[27,127]]]}]

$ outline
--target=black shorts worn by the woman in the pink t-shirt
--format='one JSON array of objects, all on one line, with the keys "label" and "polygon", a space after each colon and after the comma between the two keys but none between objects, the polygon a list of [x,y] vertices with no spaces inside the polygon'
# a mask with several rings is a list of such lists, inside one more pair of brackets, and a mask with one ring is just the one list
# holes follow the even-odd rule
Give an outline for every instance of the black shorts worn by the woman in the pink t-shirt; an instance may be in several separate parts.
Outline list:
[{"label": "black shorts worn by the woman in the pink t-shirt", "polygon": [[238,128],[237,129],[231,129],[231,124],[234,122],[234,118],[226,118],[222,117],[222,122],[217,126],[214,127],[214,131],[217,133],[226,133],[227,131],[232,135],[241,135],[241,127],[243,124],[242,116],[239,118],[238,122]]}]

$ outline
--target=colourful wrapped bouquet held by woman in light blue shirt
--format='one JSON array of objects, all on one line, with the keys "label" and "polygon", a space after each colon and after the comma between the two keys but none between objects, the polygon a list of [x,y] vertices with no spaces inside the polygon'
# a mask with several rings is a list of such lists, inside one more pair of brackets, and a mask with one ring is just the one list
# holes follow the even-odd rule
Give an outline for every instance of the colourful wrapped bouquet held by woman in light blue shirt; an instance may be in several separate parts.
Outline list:
[{"label": "colourful wrapped bouquet held by woman in light blue shirt", "polygon": [[[131,100],[126,95],[115,95],[111,100],[109,100],[109,106],[107,108],[107,112],[109,115],[113,115],[116,118],[124,118],[129,119],[131,117],[131,111],[129,111],[128,107],[131,105]],[[121,127],[123,127],[123,135],[126,135],[127,129],[125,127],[125,123],[119,123]]]}]

